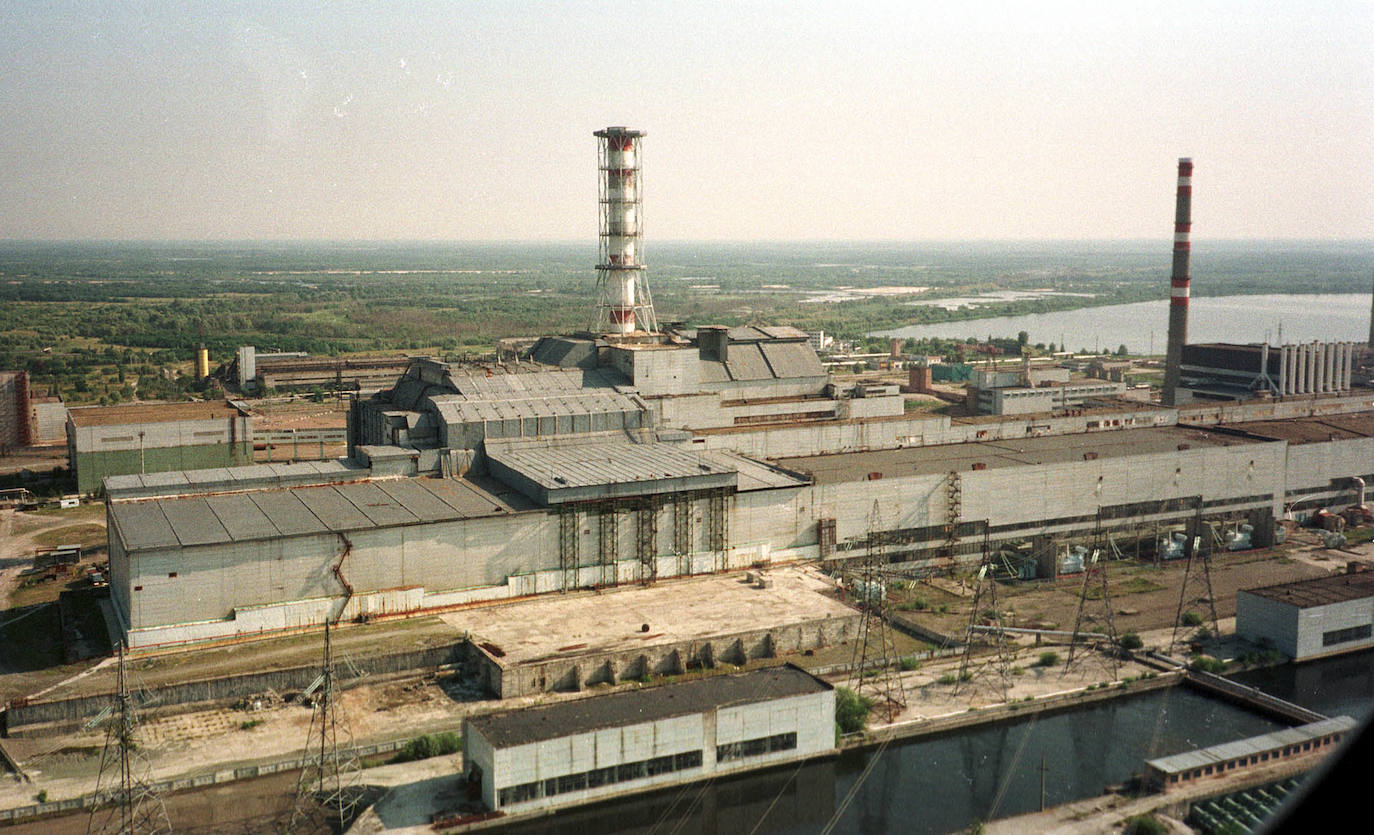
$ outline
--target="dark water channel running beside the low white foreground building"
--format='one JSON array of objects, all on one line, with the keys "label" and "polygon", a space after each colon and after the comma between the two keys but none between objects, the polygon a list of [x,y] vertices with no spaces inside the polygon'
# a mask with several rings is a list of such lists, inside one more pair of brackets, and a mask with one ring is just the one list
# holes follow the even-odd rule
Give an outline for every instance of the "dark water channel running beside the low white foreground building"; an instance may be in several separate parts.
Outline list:
[{"label": "dark water channel running beside the low white foreground building", "polygon": [[[1374,651],[1235,678],[1327,716],[1362,718],[1374,710]],[[1173,687],[1068,713],[894,742],[881,754],[877,748],[845,751],[801,768],[609,801],[500,832],[801,835],[822,831],[851,791],[853,798],[834,832],[952,832],[978,820],[1039,809],[1041,755],[1046,805],[1052,806],[1099,794],[1139,773],[1149,758],[1281,727]]]}]

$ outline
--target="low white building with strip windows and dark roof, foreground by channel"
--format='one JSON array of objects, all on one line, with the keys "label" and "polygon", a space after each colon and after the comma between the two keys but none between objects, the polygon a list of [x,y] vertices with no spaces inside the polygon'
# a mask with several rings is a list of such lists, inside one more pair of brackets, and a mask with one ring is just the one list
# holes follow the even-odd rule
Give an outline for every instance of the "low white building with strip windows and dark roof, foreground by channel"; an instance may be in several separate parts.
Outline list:
[{"label": "low white building with strip windows and dark roof, foreground by channel", "polygon": [[786,665],[463,721],[469,779],[519,813],[834,750],[834,689]]}]

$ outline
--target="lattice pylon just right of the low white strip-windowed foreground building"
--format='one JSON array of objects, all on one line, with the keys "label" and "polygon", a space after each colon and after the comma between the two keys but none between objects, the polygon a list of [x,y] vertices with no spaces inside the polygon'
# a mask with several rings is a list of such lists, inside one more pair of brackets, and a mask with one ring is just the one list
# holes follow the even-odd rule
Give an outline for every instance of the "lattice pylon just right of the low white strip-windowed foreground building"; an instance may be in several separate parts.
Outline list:
[{"label": "lattice pylon just right of the low white strip-windowed foreground building", "polygon": [[859,569],[849,573],[849,585],[861,613],[849,689],[857,695],[868,695],[875,706],[886,711],[890,722],[905,709],[907,694],[901,688],[900,672],[893,669],[897,662],[897,645],[892,637],[892,611],[888,606],[883,571],[886,541],[879,527],[881,514],[878,503],[874,501],[868,514],[868,553]]}]

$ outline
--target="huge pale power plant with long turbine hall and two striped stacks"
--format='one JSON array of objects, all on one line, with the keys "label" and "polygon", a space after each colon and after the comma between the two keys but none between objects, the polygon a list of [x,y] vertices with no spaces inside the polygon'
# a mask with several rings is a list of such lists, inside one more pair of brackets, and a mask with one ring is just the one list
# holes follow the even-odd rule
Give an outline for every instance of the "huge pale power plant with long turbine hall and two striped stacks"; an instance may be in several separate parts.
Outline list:
[{"label": "huge pale power plant with long turbine hall and two striped stacks", "polygon": [[1358,501],[1374,478],[1374,413],[1349,393],[1349,346],[1187,345],[1190,159],[1164,404],[962,419],[907,415],[896,386],[835,382],[794,328],[661,328],[643,258],[644,133],[595,137],[591,330],[504,364],[411,361],[353,402],[337,461],[106,479],[129,645],[834,566],[875,542],[914,575],[992,548],[1022,575],[1052,577],[1094,536],[1149,556],[1180,530],[1243,525],[1263,545],[1292,508]]}]

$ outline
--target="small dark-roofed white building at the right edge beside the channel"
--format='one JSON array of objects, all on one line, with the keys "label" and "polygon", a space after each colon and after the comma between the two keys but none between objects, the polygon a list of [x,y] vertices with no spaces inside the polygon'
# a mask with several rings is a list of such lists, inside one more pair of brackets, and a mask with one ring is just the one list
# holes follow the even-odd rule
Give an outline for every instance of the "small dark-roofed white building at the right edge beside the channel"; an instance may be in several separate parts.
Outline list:
[{"label": "small dark-roofed white building at the right edge beside the channel", "polygon": [[1374,571],[1241,589],[1235,633],[1293,661],[1374,647]]}]

